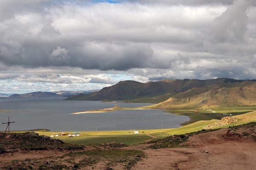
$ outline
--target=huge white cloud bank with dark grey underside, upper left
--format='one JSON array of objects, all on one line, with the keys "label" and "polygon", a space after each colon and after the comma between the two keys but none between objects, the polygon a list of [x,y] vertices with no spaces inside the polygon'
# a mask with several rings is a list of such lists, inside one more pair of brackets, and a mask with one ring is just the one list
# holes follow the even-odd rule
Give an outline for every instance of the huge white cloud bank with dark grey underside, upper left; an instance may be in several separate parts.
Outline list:
[{"label": "huge white cloud bank with dark grey underside, upper left", "polygon": [[[191,17],[193,11],[195,16]],[[213,19],[219,13],[218,8],[209,11],[200,7],[137,3],[84,6],[61,3],[57,7],[49,5],[44,12],[18,11],[1,24],[0,62],[33,68],[170,68],[159,60],[165,55],[159,53],[159,48],[165,46],[161,43],[169,49],[171,44],[192,42],[199,33],[196,25],[207,24],[201,15]],[[167,56],[165,60],[172,63],[173,58]]]}]

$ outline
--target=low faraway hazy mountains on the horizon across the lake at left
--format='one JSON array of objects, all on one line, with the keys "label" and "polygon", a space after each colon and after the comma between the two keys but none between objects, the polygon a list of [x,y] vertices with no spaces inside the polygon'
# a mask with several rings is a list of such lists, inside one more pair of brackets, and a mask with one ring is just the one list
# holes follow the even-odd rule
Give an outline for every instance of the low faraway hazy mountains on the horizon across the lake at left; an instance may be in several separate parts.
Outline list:
[{"label": "low faraway hazy mountains on the horizon across the lake at left", "polygon": [[[98,90],[87,90],[87,91],[57,91],[57,92],[31,92],[26,94],[14,94],[9,96],[9,98],[52,98],[52,97],[71,97],[78,94],[88,94],[96,92]],[[8,97],[8,96],[7,96]]]}]

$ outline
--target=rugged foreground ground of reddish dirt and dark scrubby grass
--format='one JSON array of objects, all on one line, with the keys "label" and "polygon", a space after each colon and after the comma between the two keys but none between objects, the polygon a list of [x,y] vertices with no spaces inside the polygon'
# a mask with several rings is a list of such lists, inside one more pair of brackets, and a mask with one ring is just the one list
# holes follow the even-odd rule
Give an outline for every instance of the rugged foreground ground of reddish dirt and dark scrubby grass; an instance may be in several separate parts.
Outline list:
[{"label": "rugged foreground ground of reddish dirt and dark scrubby grass", "polygon": [[23,137],[15,142],[16,148],[10,142],[5,148],[13,136],[0,134],[1,170],[254,170],[256,167],[256,123],[126,147],[113,142],[81,148],[58,140],[48,141],[47,137],[33,133],[25,135],[34,135],[43,149],[23,147],[24,143],[29,144]]}]

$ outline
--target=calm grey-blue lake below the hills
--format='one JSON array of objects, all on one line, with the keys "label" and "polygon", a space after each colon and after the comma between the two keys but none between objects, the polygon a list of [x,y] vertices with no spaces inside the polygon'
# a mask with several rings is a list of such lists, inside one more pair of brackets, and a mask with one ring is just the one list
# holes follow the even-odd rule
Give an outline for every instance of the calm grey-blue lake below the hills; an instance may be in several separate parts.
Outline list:
[{"label": "calm grey-blue lake below the hills", "polygon": [[[0,123],[10,121],[10,130],[45,128],[51,131],[143,130],[180,127],[189,117],[163,112],[161,109],[118,110],[105,113],[71,115],[95,109],[141,107],[146,103],[103,103],[100,101],[63,101],[64,98],[0,98]],[[26,111],[26,112],[19,112]],[[0,131],[6,124],[0,124]]]}]

